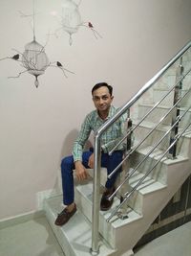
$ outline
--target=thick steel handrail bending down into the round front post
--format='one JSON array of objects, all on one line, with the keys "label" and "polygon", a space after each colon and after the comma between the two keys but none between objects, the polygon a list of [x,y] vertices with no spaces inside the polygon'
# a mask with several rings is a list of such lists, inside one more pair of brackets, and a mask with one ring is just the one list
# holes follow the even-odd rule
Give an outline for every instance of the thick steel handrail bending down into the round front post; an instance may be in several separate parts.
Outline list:
[{"label": "thick steel handrail bending down into the round front post", "polygon": [[[95,132],[95,167],[94,167],[94,188],[93,188],[93,218],[92,218],[92,247],[91,253],[98,254],[98,223],[99,223],[99,185],[100,185],[100,159],[101,159],[101,149],[100,149],[100,136],[107,129],[110,128],[117,119],[123,115],[127,110],[138,101],[138,99],[145,93],[149,88],[153,86],[156,81],[172,66],[189,48],[191,47],[191,41],[187,43],[180,52],[172,58],[160,71],[148,82],[146,82],[143,87],[138,91],[138,93],[125,105],[123,105],[117,113],[108,121],[106,121],[100,128]],[[124,203],[124,202],[123,202]]]}]

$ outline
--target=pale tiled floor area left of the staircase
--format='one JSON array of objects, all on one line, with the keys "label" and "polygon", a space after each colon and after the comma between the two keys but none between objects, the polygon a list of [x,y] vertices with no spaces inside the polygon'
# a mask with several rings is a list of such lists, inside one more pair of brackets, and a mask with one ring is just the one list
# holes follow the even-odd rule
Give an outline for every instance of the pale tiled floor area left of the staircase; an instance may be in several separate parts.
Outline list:
[{"label": "pale tiled floor area left of the staircase", "polygon": [[0,256],[64,256],[45,218],[0,229]]}]

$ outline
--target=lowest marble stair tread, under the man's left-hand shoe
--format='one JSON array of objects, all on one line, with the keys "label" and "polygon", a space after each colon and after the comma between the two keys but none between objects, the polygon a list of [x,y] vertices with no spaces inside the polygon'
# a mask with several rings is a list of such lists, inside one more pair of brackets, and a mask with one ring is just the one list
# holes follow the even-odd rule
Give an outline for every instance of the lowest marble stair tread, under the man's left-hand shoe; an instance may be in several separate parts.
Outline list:
[{"label": "lowest marble stair tread, under the man's left-hand shoe", "polygon": [[[92,246],[92,226],[91,223],[84,217],[84,215],[77,209],[73,218],[65,225],[59,227],[54,225],[54,220],[63,209],[62,197],[48,198],[45,201],[45,210],[47,218],[53,228],[58,242],[65,249],[71,247],[69,255],[76,256],[90,256],[90,248]],[[66,245],[67,243],[67,245]],[[102,238],[99,238],[99,255],[112,255],[115,250],[106,244]],[[71,254],[73,253],[73,254]],[[68,255],[68,254],[67,254]]]}]

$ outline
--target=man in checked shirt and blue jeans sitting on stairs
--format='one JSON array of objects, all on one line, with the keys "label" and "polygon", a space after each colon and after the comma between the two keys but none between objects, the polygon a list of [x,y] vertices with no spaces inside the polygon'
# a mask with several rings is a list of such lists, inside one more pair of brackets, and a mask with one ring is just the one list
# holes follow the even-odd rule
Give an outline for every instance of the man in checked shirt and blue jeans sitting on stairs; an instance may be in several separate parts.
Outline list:
[{"label": "man in checked shirt and blue jeans sitting on stairs", "polygon": [[[87,168],[94,168],[94,151],[83,151],[84,146],[90,136],[91,131],[96,131],[97,128],[103,125],[117,112],[117,108],[112,105],[113,87],[106,82],[97,83],[92,89],[93,102],[96,110],[89,113],[80,129],[78,137],[74,141],[73,155],[62,159],[61,175],[62,175],[62,190],[63,203],[66,205],[64,210],[58,214],[55,224],[64,225],[76,212],[76,205],[74,203],[74,175],[79,181],[88,178]],[[125,118],[122,116],[107,129],[101,136],[101,166],[107,168],[107,174],[112,171],[121,162],[124,146],[118,146],[117,150],[111,155],[108,154],[110,150],[117,144],[119,138],[123,136]],[[75,171],[74,171],[75,170]],[[119,168],[115,175],[108,178],[105,184],[105,191],[100,201],[100,210],[107,211],[111,208],[113,199],[108,198],[115,191],[115,181],[117,175],[121,171]]]}]

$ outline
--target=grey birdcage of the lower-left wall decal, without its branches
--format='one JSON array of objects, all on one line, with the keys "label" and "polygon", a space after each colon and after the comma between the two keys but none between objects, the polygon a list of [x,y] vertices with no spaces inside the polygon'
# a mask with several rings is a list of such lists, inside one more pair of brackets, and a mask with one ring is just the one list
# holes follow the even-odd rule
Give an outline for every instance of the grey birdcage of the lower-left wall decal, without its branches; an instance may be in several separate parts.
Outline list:
[{"label": "grey birdcage of the lower-left wall decal, without its branches", "polygon": [[35,77],[34,84],[37,88],[39,85],[38,76],[44,74],[50,65],[44,46],[36,42],[34,38],[32,42],[25,45],[25,52],[21,61],[27,71]]}]

